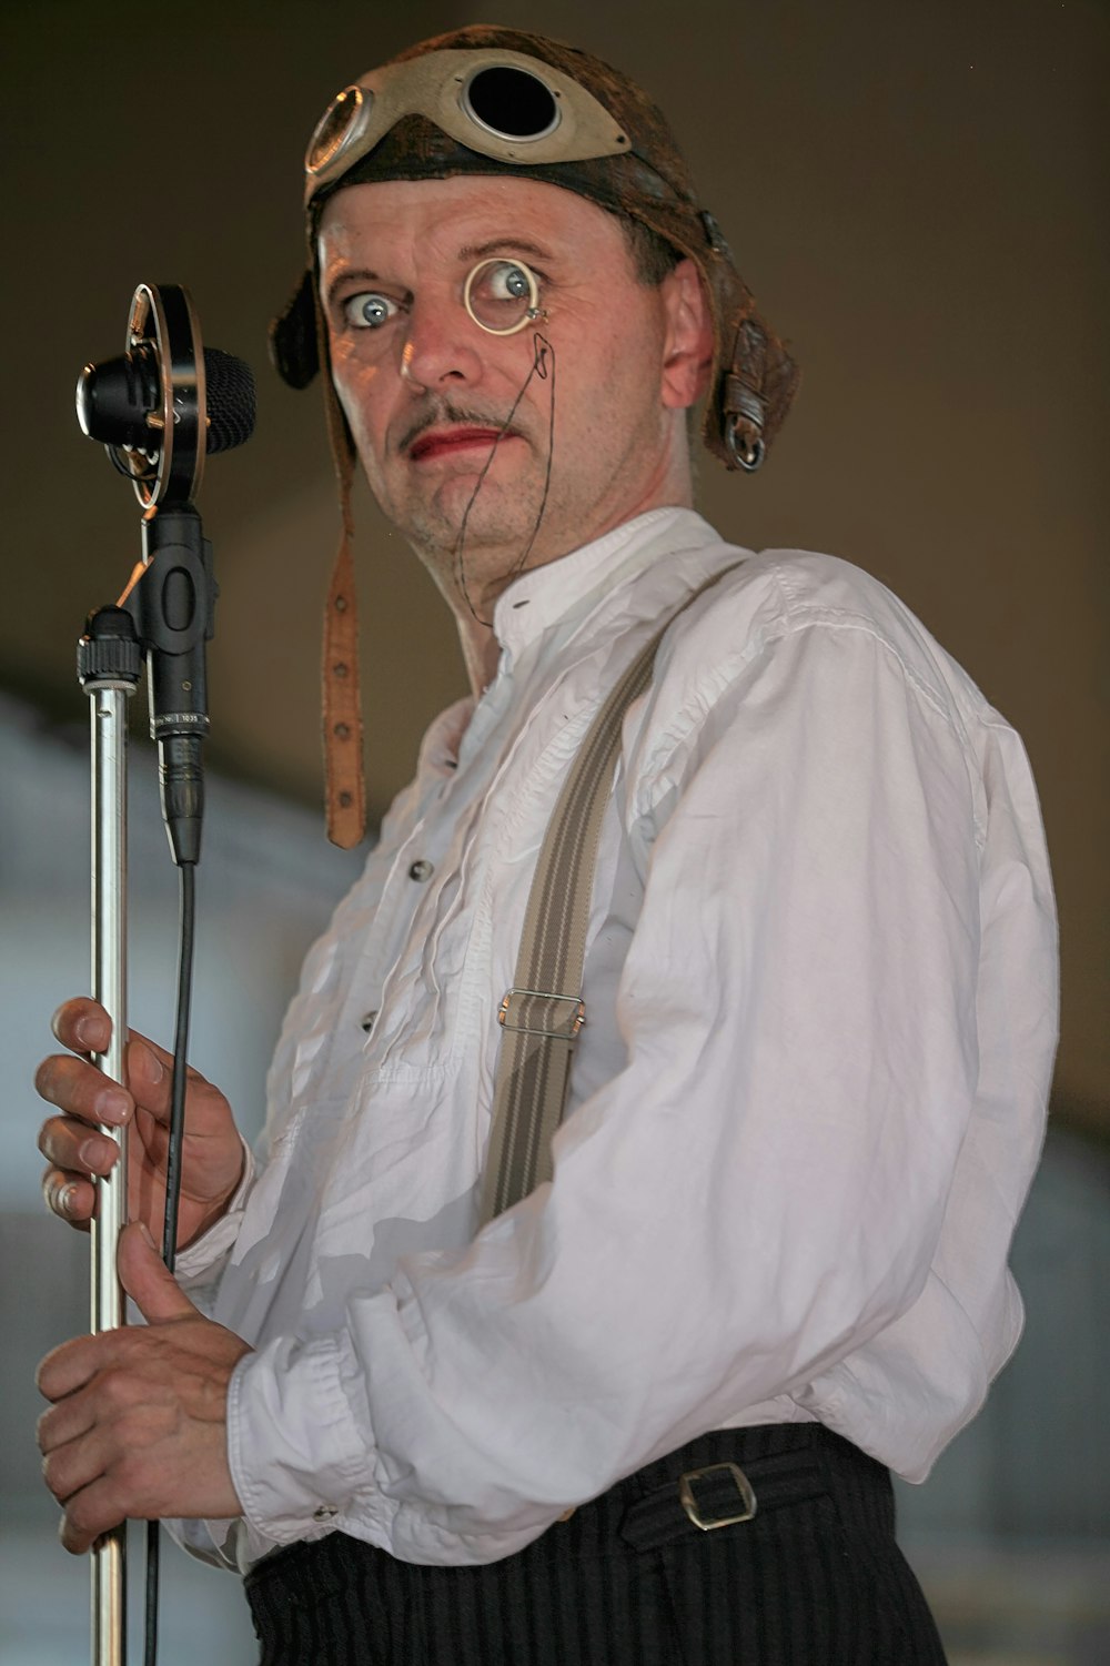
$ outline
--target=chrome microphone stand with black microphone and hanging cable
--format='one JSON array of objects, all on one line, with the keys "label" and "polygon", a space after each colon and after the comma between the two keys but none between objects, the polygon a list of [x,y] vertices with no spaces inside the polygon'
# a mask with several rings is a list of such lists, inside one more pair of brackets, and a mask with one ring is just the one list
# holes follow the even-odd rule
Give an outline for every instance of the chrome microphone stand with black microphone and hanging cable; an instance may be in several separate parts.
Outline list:
[{"label": "chrome microphone stand with black microphone and hanging cable", "polygon": [[[173,1271],[177,1193],[185,1116],[185,1048],[192,976],[193,871],[203,818],[202,743],[208,731],[205,643],[217,586],[212,548],[193,508],[208,450],[230,450],[255,423],[253,377],[218,350],[202,350],[192,302],[177,285],[140,283],[132,298],[127,352],[87,365],[77,383],[83,431],[103,440],[115,468],[143,506],[142,561],[118,605],[88,618],[78,676],[92,720],[92,938],[93,996],[112,1020],[108,1050],[93,1061],[125,1085],[127,1061],[127,703],[147,660],[150,733],[170,853],[182,873],[182,961],[167,1155],[162,1256]],[[185,991],[185,993],[183,993]],[[92,1329],[125,1323],[117,1240],[128,1220],[127,1136],[100,1128],[120,1148],[97,1183],[92,1223]],[[157,1638],[157,1523],[147,1556],[147,1659]],[[127,1523],[92,1553],[93,1666],[127,1659]]]}]

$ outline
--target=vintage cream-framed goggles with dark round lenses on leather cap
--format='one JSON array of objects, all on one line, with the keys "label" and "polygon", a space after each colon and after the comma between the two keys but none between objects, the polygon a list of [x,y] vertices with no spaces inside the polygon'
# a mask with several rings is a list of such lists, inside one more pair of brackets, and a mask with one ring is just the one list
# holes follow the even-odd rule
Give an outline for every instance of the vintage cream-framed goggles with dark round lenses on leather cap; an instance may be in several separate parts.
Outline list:
[{"label": "vintage cream-framed goggles with dark round lenses on leather cap", "polygon": [[585,87],[540,58],[497,48],[428,52],[372,70],[332,100],[305,153],[305,205],[407,115],[427,117],[498,162],[588,162],[632,148]]}]

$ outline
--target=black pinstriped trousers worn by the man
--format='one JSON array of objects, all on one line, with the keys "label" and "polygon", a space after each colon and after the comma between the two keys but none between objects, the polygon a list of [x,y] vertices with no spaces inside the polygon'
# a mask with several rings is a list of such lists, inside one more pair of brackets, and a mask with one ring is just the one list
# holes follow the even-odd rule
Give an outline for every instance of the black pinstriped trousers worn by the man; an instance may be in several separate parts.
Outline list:
[{"label": "black pinstriped trousers worn by the man", "polygon": [[[753,1519],[702,1531],[683,1471],[735,1463]],[[695,1483],[708,1519],[735,1479]],[[247,1576],[260,1666],[945,1666],[882,1464],[817,1423],[705,1434],[480,1568],[333,1533]]]}]

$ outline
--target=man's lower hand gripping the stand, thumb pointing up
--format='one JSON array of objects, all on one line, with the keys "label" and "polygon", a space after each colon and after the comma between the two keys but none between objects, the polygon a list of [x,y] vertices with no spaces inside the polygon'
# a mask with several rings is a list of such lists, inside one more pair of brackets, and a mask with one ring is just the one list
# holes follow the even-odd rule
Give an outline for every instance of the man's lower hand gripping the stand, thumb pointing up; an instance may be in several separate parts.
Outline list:
[{"label": "man's lower hand gripping the stand, thumb pointing up", "polygon": [[247,1343],[197,1311],[140,1225],[120,1235],[120,1279],[147,1326],[47,1354],[38,1419],[62,1543],[80,1554],[128,1516],[238,1516],[227,1463],[227,1384]]}]

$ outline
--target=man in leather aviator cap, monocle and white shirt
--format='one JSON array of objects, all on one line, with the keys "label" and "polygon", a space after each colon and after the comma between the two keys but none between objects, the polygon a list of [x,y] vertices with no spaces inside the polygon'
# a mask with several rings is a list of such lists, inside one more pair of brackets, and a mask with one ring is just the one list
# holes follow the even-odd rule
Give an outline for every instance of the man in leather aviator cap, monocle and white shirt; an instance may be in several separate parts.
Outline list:
[{"label": "man in leather aviator cap, monocle and white shirt", "polygon": [[[247,1573],[265,1663],[942,1661],[887,1468],[925,1476],[1020,1329],[1055,1038],[1020,743],[880,585],[693,515],[690,407],[753,466],[795,377],[630,83],[465,30],[347,90],[308,162],[278,362],[327,365],[343,495],[353,441],[473,698],[308,958],[265,1168],[195,1078],[178,1281],[128,1228],[147,1328],[43,1363],[63,1541],[182,1518]],[[537,853],[660,630],[568,1101],[538,1183],[492,1195],[505,991],[543,1028],[513,970]],[[75,1055],[105,1025],[55,1018]],[[165,1065],[45,1061],[58,1215],[110,1166],[90,1123],[130,1120],[153,1225]]]}]

